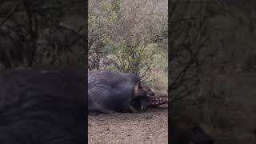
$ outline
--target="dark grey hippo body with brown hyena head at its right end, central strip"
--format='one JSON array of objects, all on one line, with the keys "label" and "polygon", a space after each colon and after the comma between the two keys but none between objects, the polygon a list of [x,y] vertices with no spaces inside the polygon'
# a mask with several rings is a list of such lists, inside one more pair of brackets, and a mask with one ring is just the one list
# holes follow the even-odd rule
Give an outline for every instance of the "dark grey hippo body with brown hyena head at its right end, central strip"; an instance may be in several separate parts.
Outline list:
[{"label": "dark grey hippo body with brown hyena head at its right end, central strip", "polygon": [[[146,96],[140,78],[134,74],[109,70],[90,71],[88,75],[88,110],[111,114],[137,112],[131,106],[135,98]],[[137,86],[137,87],[136,87]]]}]

